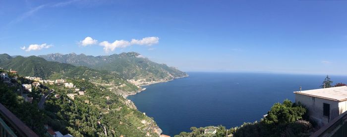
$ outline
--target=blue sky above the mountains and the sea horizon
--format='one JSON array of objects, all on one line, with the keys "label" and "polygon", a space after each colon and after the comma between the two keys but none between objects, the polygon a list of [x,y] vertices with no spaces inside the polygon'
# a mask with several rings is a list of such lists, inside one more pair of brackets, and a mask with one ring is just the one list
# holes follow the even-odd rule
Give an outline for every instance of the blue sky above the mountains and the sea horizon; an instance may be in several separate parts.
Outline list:
[{"label": "blue sky above the mountains and the sea horizon", "polygon": [[[0,53],[135,51],[183,71],[347,75],[346,7],[346,0],[0,0]],[[86,37],[92,41],[83,45]]]}]

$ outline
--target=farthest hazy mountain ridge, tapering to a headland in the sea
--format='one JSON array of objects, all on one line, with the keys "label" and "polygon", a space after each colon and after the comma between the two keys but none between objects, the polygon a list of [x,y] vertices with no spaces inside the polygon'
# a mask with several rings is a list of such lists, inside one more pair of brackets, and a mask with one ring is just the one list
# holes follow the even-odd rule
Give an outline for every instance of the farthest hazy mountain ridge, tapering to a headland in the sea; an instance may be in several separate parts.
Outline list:
[{"label": "farthest hazy mountain ridge, tapering to a headland in the sea", "polygon": [[87,56],[84,54],[40,55],[48,61],[58,61],[76,66],[86,66],[97,70],[114,71],[124,79],[146,79],[147,81],[171,80],[187,76],[166,64],[155,63],[136,52],[113,54],[109,56]]}]

